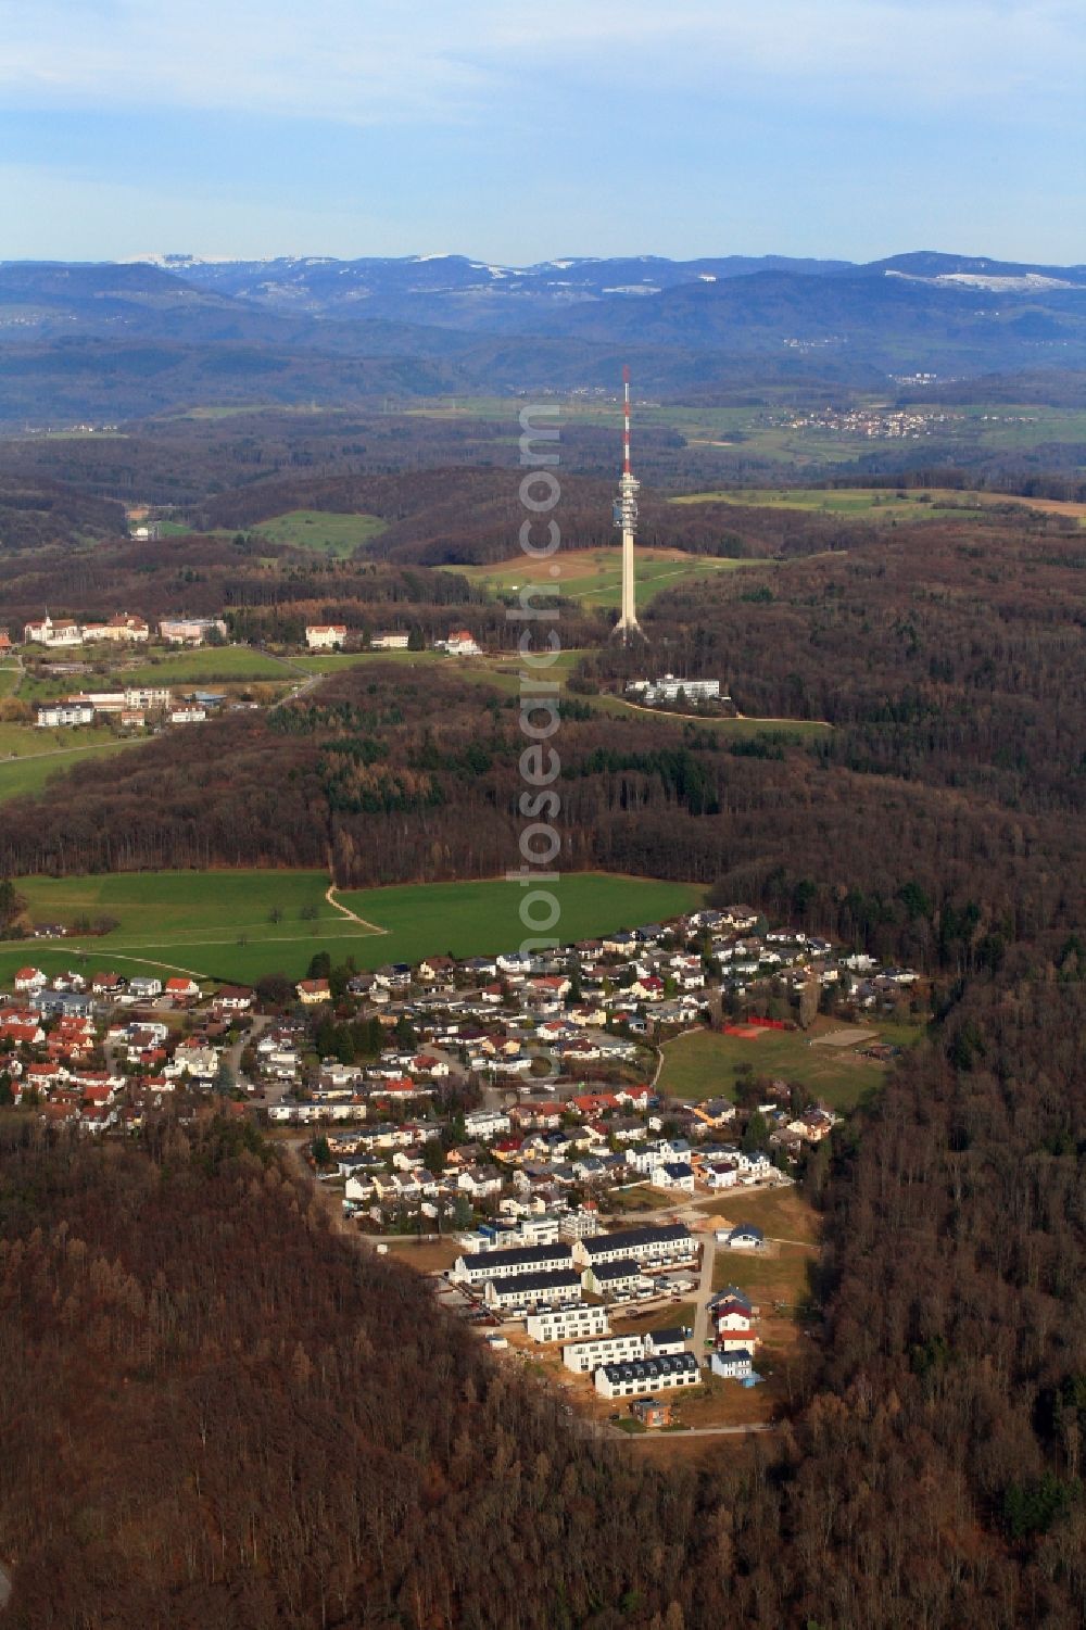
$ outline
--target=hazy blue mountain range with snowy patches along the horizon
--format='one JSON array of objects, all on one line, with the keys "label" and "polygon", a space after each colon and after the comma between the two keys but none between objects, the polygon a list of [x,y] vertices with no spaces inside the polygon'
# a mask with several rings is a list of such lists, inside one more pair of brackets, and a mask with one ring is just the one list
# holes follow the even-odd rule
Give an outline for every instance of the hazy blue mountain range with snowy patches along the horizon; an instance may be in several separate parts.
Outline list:
[{"label": "hazy blue mountain range with snowy patches along the horizon", "polygon": [[0,419],[435,391],[892,390],[1086,367],[1086,267],[920,251],[0,262]]}]

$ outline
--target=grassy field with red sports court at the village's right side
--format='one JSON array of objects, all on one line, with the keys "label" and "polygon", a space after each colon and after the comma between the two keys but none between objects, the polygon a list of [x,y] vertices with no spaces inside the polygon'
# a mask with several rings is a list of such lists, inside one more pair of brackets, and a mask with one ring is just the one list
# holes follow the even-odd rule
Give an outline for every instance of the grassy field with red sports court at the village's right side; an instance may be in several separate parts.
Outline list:
[{"label": "grassy field with red sports court at the village's right side", "polygon": [[872,1038],[902,1046],[916,1040],[918,1032],[872,1020],[854,1027],[851,1045],[830,1046],[819,1037],[837,1033],[846,1042],[850,1027],[833,1020],[817,1020],[815,1029],[763,1030],[757,1037],[724,1035],[719,1030],[690,1030],[664,1045],[660,1087],[675,1099],[700,1102],[735,1095],[735,1071],[748,1064],[758,1076],[783,1076],[807,1087],[830,1108],[848,1110],[876,1090],[885,1076],[885,1064],[859,1058],[858,1046]]}]

